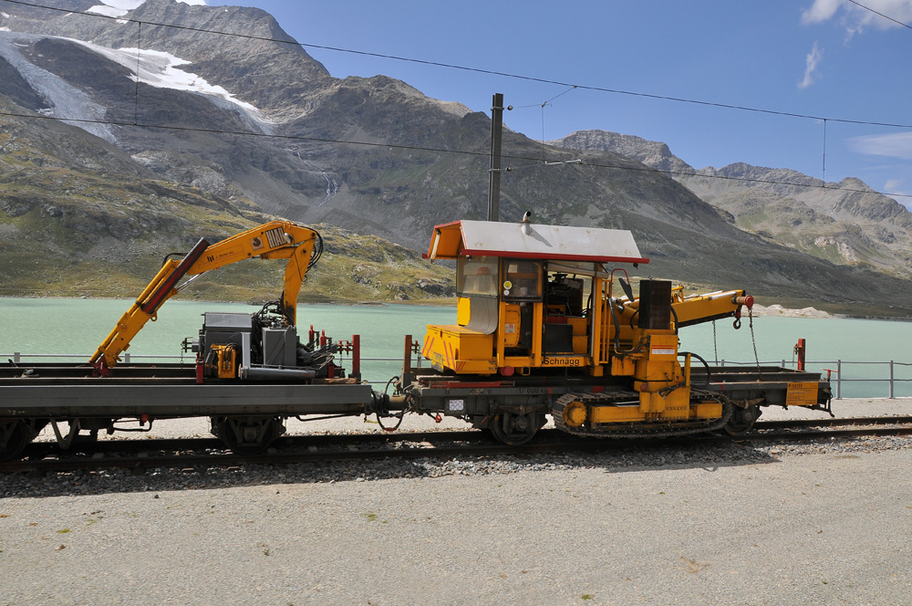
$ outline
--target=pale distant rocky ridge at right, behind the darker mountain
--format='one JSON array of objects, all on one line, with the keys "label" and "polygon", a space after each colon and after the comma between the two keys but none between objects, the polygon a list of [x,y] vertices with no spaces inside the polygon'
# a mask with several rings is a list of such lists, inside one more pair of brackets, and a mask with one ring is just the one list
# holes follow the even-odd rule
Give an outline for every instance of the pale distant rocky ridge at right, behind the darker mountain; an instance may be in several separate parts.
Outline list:
[{"label": "pale distant rocky ridge at right, behind the darker mountain", "polygon": [[743,230],[837,265],[870,264],[912,278],[912,213],[858,179],[824,183],[744,163],[696,170],[665,143],[615,132],[577,131],[550,143],[621,153],[667,172]]}]

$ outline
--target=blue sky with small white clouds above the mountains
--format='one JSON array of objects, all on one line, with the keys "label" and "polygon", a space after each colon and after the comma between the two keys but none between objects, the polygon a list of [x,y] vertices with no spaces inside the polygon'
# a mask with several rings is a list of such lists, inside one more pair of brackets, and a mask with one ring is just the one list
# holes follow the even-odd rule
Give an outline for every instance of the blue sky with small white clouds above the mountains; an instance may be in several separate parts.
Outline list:
[{"label": "blue sky with small white clouds above the mountains", "polygon": [[[912,24],[912,0],[859,0]],[[794,118],[307,48],[333,76],[399,78],[534,139],[602,129],[668,143],[691,165],[748,162],[912,194],[912,27],[849,0],[207,0],[268,11],[301,43],[584,87],[826,118]],[[563,93],[563,94],[562,94]],[[542,107],[545,101],[549,101]],[[824,147],[825,131],[825,147]],[[897,197],[907,206],[912,198]]]}]

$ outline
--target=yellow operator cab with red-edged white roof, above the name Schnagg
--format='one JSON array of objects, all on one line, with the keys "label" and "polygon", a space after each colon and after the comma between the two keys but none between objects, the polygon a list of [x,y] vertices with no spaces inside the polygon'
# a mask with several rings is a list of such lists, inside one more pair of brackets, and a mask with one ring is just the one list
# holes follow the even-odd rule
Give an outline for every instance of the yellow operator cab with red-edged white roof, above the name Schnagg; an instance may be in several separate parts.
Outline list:
[{"label": "yellow operator cab with red-edged white roof, above the name Schnagg", "polygon": [[428,257],[456,260],[457,322],[429,326],[422,354],[437,371],[507,376],[592,367],[602,263],[648,262],[626,230],[486,221],[437,226]]}]

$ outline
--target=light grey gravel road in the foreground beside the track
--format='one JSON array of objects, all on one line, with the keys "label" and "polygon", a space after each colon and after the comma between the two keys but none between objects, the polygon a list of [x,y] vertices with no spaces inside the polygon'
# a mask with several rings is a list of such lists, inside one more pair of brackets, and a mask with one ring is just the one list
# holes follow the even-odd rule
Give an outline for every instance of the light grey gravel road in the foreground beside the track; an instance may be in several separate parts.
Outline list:
[{"label": "light grey gravel road in the foreground beside the track", "polygon": [[887,438],[6,476],[0,606],[908,604],[910,469]]}]

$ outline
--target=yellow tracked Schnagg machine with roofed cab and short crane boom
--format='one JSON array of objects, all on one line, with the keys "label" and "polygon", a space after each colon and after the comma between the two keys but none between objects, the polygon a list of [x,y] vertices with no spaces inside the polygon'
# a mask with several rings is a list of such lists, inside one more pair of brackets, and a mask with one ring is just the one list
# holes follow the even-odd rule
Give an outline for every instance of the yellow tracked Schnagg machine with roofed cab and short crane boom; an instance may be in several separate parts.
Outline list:
[{"label": "yellow tracked Schnagg machine with roofed cab and short crane boom", "polygon": [[[457,262],[457,324],[429,325],[422,355],[446,374],[563,372],[601,377],[636,394],[625,402],[568,407],[570,426],[719,418],[719,402],[692,397],[690,357],[679,358],[678,330],[740,314],[744,291],[685,297],[683,287],[643,280],[634,296],[619,279],[627,272],[606,265],[647,262],[636,246],[625,241],[626,256],[606,253],[598,246],[618,230],[586,229],[576,241],[575,229],[583,228],[438,226],[428,256]],[[503,235],[509,230],[515,233]]]}]

